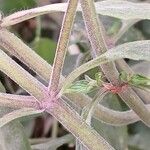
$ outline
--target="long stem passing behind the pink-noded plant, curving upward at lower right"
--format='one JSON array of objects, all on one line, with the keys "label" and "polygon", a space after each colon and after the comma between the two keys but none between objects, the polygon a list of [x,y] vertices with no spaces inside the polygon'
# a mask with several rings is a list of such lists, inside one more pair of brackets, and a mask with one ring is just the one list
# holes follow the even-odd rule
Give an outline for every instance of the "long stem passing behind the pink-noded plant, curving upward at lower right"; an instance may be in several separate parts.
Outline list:
[{"label": "long stem passing behind the pink-noded plant, curving upward at lower right", "polygon": [[[9,51],[11,54],[14,54],[19,60],[23,61],[28,67],[33,69],[36,73],[40,75],[40,77],[42,77],[45,81],[48,82],[52,67],[46,61],[44,61],[40,56],[38,56],[31,48],[25,45],[13,33],[10,33],[5,29],[0,30],[0,41],[1,41],[0,45],[2,45],[5,48],[5,50]],[[61,79],[63,80],[64,77],[61,77]],[[80,107],[85,106],[87,100],[88,102],[90,101],[89,98],[87,98],[85,95],[80,93],[76,93],[76,95],[74,95],[73,93],[67,94],[67,97],[70,98],[73,102],[75,102]],[[79,101],[77,102],[78,99]],[[11,107],[11,102],[9,104],[10,104],[9,106]],[[4,105],[3,104],[0,105],[5,106],[5,103]],[[97,108],[96,112],[99,112],[97,113],[98,115],[96,115],[97,119],[103,120],[104,122],[112,125],[126,125],[139,120],[139,118],[132,111],[131,112],[132,114],[134,114],[134,116],[132,117],[131,115],[130,117],[130,113],[128,112],[115,112],[101,105],[99,105],[99,108]]]}]

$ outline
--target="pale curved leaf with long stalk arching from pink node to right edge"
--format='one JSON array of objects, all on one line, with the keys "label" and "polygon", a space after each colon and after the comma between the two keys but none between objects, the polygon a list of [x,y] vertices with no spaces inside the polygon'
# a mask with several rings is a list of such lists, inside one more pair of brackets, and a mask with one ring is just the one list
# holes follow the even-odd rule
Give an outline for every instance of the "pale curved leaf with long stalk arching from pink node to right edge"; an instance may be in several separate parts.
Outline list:
[{"label": "pale curved leaf with long stalk arching from pink node to right edge", "polygon": [[84,72],[97,67],[100,64],[121,58],[150,61],[150,41],[135,41],[119,45],[107,51],[103,55],[100,55],[97,58],[81,65],[68,75],[63,84],[61,92],[64,91],[64,89],[66,89],[79,75],[83,74]]}]

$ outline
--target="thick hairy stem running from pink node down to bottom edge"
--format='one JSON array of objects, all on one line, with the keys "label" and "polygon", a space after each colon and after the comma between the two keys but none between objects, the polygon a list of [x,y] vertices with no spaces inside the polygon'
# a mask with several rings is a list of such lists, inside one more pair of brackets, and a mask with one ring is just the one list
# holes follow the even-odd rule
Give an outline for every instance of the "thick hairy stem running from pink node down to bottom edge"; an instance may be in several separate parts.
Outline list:
[{"label": "thick hairy stem running from pink node down to bottom edge", "polygon": [[64,125],[85,147],[90,150],[114,150],[95,130],[71,110],[64,101],[58,100],[55,109],[47,110]]}]

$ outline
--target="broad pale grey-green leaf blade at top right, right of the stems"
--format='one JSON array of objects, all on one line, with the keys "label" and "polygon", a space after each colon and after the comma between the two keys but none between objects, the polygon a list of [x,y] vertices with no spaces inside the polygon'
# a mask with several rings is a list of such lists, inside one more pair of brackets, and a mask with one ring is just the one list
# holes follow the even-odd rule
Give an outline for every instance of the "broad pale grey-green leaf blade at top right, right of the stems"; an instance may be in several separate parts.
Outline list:
[{"label": "broad pale grey-green leaf blade at top right, right of the stems", "polygon": [[[149,3],[106,0],[96,3],[97,13],[120,19],[150,19]],[[143,11],[144,10],[144,11]]]}]

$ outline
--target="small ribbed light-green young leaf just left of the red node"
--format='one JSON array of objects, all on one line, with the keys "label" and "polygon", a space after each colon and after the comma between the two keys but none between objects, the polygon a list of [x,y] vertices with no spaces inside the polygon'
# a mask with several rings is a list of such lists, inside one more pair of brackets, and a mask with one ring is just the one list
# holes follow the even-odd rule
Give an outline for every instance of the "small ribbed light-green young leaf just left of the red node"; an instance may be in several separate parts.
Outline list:
[{"label": "small ribbed light-green young leaf just left of the red node", "polygon": [[90,82],[87,80],[80,80],[71,84],[64,93],[89,93],[95,86],[97,86],[95,80]]}]

